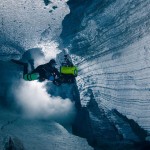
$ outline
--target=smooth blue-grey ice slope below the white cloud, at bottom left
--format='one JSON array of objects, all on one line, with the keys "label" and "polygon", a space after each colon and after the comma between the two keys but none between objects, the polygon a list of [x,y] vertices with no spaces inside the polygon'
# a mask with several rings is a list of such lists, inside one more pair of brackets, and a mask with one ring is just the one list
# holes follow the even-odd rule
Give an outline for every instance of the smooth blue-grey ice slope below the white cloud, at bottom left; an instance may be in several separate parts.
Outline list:
[{"label": "smooth blue-grey ice slope below the white cloud, at bottom left", "polygon": [[18,148],[22,143],[27,150],[92,150],[85,139],[49,120],[25,119],[1,110],[0,128],[0,150],[10,136]]}]

